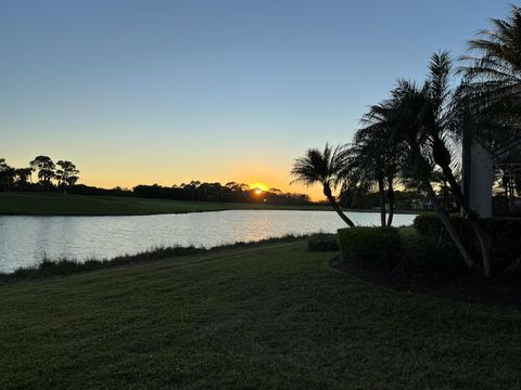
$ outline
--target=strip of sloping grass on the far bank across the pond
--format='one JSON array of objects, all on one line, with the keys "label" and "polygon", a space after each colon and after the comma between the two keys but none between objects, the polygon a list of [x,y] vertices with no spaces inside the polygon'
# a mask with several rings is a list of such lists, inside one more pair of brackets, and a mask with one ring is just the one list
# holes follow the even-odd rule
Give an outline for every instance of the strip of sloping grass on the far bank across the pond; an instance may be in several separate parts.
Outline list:
[{"label": "strip of sloping grass on the far bank across the pond", "polygon": [[0,193],[0,214],[27,216],[142,216],[234,209],[327,210],[328,206],[182,202],[59,193]]}]

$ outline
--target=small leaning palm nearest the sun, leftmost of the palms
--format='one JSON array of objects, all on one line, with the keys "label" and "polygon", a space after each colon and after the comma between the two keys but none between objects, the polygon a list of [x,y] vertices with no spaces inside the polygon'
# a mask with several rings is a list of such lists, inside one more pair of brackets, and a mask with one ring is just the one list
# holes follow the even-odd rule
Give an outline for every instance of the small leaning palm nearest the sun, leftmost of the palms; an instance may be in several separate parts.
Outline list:
[{"label": "small leaning palm nearest the sun, leftmost of the palms", "polygon": [[326,144],[323,151],[309,148],[303,157],[295,159],[293,168],[291,169],[291,176],[295,179],[291,183],[302,183],[306,186],[317,183],[321,184],[323,195],[328,198],[334,211],[336,211],[347,225],[354,227],[355,224],[341,210],[332,194],[332,190],[334,190],[342,180],[340,174],[344,171],[344,165],[343,148],[340,146],[333,148],[329,144]]}]

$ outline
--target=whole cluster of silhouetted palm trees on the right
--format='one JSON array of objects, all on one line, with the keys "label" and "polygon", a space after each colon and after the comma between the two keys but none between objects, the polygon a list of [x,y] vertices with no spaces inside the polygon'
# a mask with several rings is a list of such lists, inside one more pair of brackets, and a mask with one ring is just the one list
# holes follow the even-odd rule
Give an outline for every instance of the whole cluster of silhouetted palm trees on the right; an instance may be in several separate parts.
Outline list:
[{"label": "whole cluster of silhouetted palm trees on the right", "polygon": [[[469,41],[469,54],[459,58],[458,67],[447,52],[432,54],[425,80],[398,79],[390,95],[363,116],[351,143],[309,148],[291,170],[294,182],[320,183],[350,226],[355,223],[333,196],[339,186],[343,192],[377,188],[382,227],[392,225],[398,184],[423,191],[467,265],[474,268],[435,190],[436,181],[443,182],[480,243],[487,277],[491,239],[463,195],[457,167],[473,142],[488,148],[509,148],[513,142],[518,148],[509,158],[521,162],[521,10],[512,5],[506,20],[491,23]],[[460,83],[453,88],[449,80],[455,76]]]}]

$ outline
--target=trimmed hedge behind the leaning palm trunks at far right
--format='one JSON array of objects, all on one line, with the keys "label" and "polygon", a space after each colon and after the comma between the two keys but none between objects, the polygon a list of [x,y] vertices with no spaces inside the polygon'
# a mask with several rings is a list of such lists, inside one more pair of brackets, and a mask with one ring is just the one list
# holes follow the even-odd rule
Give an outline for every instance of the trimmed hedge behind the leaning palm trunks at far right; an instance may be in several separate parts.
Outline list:
[{"label": "trimmed hedge behind the leaning palm trunks at far right", "polygon": [[[461,217],[450,217],[463,245],[478,261],[481,259],[480,246],[469,222]],[[520,218],[482,218],[480,223],[491,238],[491,260],[495,272],[505,270],[521,256],[521,219]],[[453,245],[450,237],[435,214],[420,214],[415,218],[417,232],[440,243]]]}]

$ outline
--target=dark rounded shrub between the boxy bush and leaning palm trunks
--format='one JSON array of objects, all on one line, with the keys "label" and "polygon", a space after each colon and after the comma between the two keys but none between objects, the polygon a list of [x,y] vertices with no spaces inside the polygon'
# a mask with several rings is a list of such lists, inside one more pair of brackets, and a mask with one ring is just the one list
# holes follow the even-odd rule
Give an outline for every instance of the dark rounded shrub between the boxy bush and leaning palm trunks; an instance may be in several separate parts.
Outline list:
[{"label": "dark rounded shrub between the boxy bush and leaning palm trunks", "polygon": [[401,238],[402,256],[395,272],[406,278],[444,281],[467,271],[465,261],[450,244],[418,234]]}]

